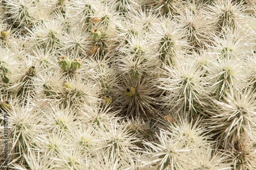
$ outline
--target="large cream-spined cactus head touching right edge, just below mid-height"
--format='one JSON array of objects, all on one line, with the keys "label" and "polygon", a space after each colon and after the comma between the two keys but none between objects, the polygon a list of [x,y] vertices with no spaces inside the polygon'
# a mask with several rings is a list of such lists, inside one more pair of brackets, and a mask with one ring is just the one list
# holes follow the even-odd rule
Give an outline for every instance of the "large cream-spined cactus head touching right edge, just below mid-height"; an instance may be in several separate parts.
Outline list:
[{"label": "large cream-spined cactus head touching right edge, just below mid-height", "polygon": [[240,139],[244,133],[253,133],[255,128],[255,93],[252,89],[234,91],[227,94],[221,102],[216,102],[216,112],[212,114],[211,125],[218,138],[224,141],[224,147],[234,139]]}]

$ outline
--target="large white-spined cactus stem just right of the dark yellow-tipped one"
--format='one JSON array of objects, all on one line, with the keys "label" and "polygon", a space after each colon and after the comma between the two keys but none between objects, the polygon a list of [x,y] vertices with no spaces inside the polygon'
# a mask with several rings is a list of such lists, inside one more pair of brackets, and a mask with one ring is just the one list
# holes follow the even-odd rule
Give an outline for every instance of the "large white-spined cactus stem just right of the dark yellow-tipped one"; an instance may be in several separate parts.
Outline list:
[{"label": "large white-spined cactus stem just right of the dark yellow-tipped one", "polygon": [[203,77],[204,70],[199,70],[197,65],[188,61],[179,63],[177,66],[166,67],[167,78],[160,78],[161,86],[167,91],[166,97],[162,98],[170,109],[176,109],[189,116],[202,114],[201,107],[206,105],[207,85],[206,77]]}]

